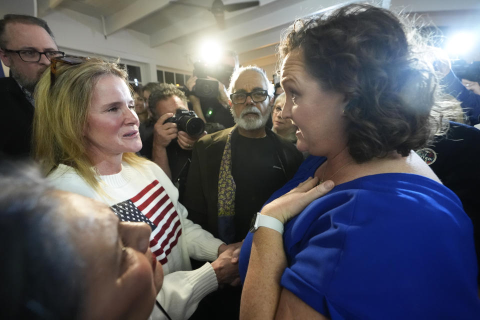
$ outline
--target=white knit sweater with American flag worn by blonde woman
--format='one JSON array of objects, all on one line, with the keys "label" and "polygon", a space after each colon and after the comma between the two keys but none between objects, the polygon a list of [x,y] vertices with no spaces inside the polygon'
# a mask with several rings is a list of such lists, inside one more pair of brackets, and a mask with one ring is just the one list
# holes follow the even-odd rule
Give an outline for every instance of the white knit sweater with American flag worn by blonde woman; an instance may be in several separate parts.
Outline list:
[{"label": "white knit sweater with American flag worn by blonde woman", "polygon": [[[156,226],[150,236],[150,248],[165,274],[157,300],[172,319],[187,319],[198,302],[217,289],[210,263],[191,270],[189,257],[213,261],[223,242],[187,219],[188,212],[178,202],[178,190],[153,162],[141,168],[123,162],[119,173],[100,175],[100,188],[105,194],[93,190],[72,167],[63,164],[50,173],[48,180],[57,189],[106,203],[120,219],[146,220]],[[155,306],[151,318],[165,317]]]}]

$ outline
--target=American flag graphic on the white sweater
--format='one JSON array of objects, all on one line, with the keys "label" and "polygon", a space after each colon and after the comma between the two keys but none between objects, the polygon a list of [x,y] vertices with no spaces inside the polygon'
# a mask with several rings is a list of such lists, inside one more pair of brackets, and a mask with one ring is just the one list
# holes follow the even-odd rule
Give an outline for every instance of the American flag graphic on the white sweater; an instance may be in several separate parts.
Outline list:
[{"label": "American flag graphic on the white sweater", "polygon": [[170,197],[158,180],[153,180],[135,196],[111,208],[122,221],[150,225],[150,250],[161,264],[165,264],[180,237],[181,224]]}]

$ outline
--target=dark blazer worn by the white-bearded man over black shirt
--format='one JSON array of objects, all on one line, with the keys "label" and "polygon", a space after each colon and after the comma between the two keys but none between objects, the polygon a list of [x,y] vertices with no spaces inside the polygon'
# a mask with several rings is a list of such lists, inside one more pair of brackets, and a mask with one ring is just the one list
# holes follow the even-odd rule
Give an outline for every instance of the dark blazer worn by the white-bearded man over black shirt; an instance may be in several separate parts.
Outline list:
[{"label": "dark blazer worn by the white-bearded man over black shirt", "polygon": [[[207,134],[195,142],[183,195],[183,204],[188,209],[188,218],[216,237],[218,237],[217,202],[220,162],[228,134],[235,127]],[[276,144],[278,157],[288,181],[303,161],[303,157],[293,143],[276,135],[268,128],[265,130]]]}]

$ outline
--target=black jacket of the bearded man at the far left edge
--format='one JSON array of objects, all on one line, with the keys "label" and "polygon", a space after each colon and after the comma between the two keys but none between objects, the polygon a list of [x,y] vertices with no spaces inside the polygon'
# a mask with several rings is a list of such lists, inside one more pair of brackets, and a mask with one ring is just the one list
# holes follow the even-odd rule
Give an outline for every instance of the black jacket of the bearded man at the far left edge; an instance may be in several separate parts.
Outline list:
[{"label": "black jacket of the bearded man at the far left edge", "polygon": [[7,156],[28,156],[31,147],[33,105],[11,77],[0,78],[0,110],[3,118],[0,152]]}]

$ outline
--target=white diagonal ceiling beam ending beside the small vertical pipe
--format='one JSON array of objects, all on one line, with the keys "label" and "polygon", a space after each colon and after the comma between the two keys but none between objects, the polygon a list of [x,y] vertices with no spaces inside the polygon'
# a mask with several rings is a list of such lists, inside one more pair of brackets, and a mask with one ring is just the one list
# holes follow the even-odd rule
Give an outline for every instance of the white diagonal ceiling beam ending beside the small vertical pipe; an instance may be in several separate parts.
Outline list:
[{"label": "white diagonal ceiling beam ending beside the small vertical pipe", "polygon": [[127,7],[105,16],[105,32],[112,34],[131,23],[141,20],[148,14],[168,5],[168,0],[136,0]]}]

